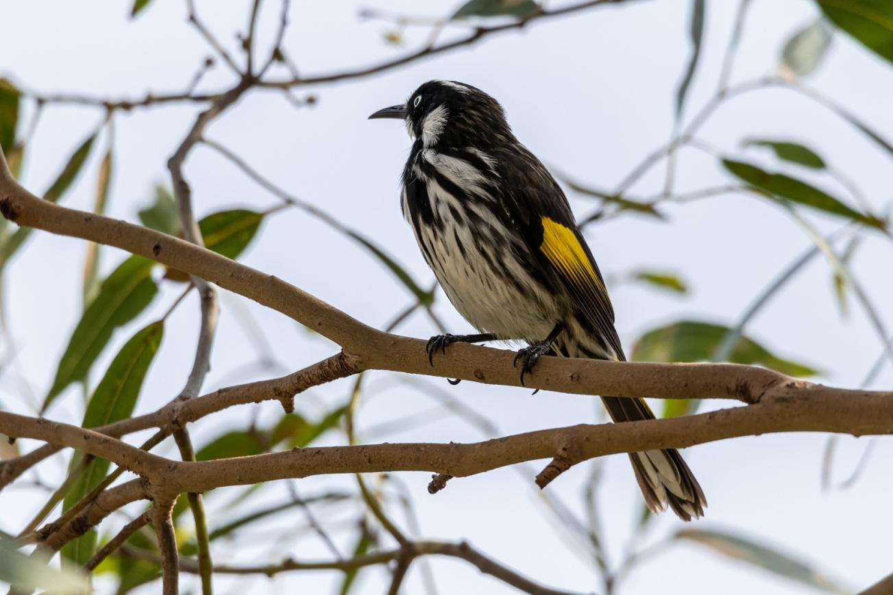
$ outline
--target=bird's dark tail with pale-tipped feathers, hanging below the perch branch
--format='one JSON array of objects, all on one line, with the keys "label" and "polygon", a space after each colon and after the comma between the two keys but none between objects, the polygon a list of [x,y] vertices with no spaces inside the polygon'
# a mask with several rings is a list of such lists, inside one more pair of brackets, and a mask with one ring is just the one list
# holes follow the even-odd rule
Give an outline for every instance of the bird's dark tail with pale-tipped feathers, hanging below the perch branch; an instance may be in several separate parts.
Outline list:
[{"label": "bird's dark tail with pale-tipped feathers, hanging below the perch branch", "polygon": [[[641,399],[602,397],[602,401],[615,422],[655,418]],[[678,450],[631,452],[630,461],[638,487],[652,512],[658,513],[669,505],[683,521],[704,515],[707,505],[704,492]]]}]

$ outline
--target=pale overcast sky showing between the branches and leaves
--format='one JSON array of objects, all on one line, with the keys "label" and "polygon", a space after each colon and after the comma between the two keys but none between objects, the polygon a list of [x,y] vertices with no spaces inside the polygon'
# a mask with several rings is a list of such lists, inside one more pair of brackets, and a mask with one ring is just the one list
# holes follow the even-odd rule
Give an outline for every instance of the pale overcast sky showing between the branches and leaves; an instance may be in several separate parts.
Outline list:
[{"label": "pale overcast sky showing between the branches and leaves", "polygon": [[[455,10],[454,2],[431,2],[423,7],[408,0],[385,4],[371,5],[412,14],[441,15]],[[707,4],[705,45],[689,93],[689,117],[715,91],[737,3],[713,0]],[[771,73],[785,40],[816,16],[814,4],[805,0],[756,0],[752,4],[733,81]],[[405,35],[405,47],[386,44],[383,34],[391,29],[387,23],[357,18],[360,9],[368,5],[295,3],[285,43],[302,74],[313,76],[374,64],[424,43],[427,31],[411,29]],[[233,33],[244,28],[246,3],[203,2],[199,8],[219,37],[235,48]],[[279,10],[275,2],[264,4],[259,35],[267,43]],[[230,147],[290,193],[320,205],[346,225],[362,229],[427,285],[433,282],[433,276],[417,251],[398,205],[398,176],[409,140],[398,123],[370,122],[366,117],[402,101],[428,79],[461,80],[497,97],[516,135],[543,161],[592,186],[613,187],[672,132],[673,96],[689,54],[688,13],[687,1],[655,0],[537,23],[380,75],[298,89],[298,97],[307,93],[318,97],[312,108],[296,108],[280,93],[253,92],[215,120],[207,136]],[[9,76],[22,87],[40,92],[134,97],[146,91],[178,91],[187,86],[209,52],[195,30],[188,27],[184,4],[172,0],[157,0],[134,21],[128,19],[122,3],[109,0],[87,4],[7,1],[0,3],[0,14],[4,23],[0,76]],[[809,82],[871,122],[881,136],[893,139],[893,120],[889,117],[893,72],[889,63],[837,34],[827,59]],[[201,88],[218,90],[231,84],[230,73],[218,64]],[[198,109],[179,103],[116,118],[111,215],[136,220],[138,209],[151,200],[154,183],[168,183],[165,162]],[[29,145],[24,184],[38,193],[45,190],[61,163],[101,123],[103,115],[79,107],[47,109]],[[708,121],[703,136],[730,153],[739,152],[740,141],[748,136],[797,139],[855,179],[877,209],[889,204],[893,195],[889,154],[879,152],[865,136],[827,110],[786,90],[760,91],[731,100]],[[94,150],[85,173],[65,197],[65,204],[91,207],[101,153]],[[764,153],[748,154],[754,161],[771,163]],[[680,191],[728,181],[713,158],[697,151],[682,152],[679,166]],[[633,194],[658,192],[663,172],[663,167],[656,168],[634,186]],[[199,215],[233,206],[259,210],[276,203],[273,196],[204,147],[190,153],[186,175]],[[847,195],[827,178],[815,179],[837,194]],[[593,207],[585,198],[571,196],[571,202],[578,215]],[[670,269],[679,272],[692,288],[689,296],[680,298],[641,285],[613,285],[617,327],[628,346],[648,329],[677,319],[733,324],[772,278],[810,246],[808,236],[784,211],[754,196],[722,195],[672,207],[667,212],[667,222],[625,216],[588,228],[589,244],[608,277],[620,278],[641,268]],[[840,224],[839,220],[812,215],[810,219],[823,231]],[[0,399],[5,409],[33,413],[34,402],[46,393],[79,318],[84,249],[83,243],[71,238],[37,233],[6,270],[5,309],[20,351],[16,371],[0,376]],[[112,269],[123,256],[105,249],[103,269]],[[385,326],[413,300],[369,253],[299,211],[283,211],[268,218],[242,260],[373,326]],[[880,306],[885,324],[893,329],[890,266],[889,240],[866,235],[852,262],[853,271],[872,301]],[[163,313],[181,291],[179,286],[168,285],[164,285],[152,311],[139,319],[143,324]],[[335,350],[331,343],[310,335],[280,314],[221,293],[221,326],[205,388],[300,368]],[[822,382],[856,386],[877,359],[880,342],[852,296],[849,305],[849,315],[842,318],[829,266],[815,259],[762,310],[748,334],[782,357],[821,369]],[[197,310],[193,295],[169,319],[162,350],[138,402],[138,413],[158,408],[179,391],[191,363]],[[254,366],[264,351],[255,349],[240,323],[244,311],[250,311],[263,329],[269,351],[282,368]],[[443,293],[438,293],[436,311],[449,330],[469,330]],[[94,382],[137,327],[114,336],[113,348],[96,364]],[[427,337],[435,329],[423,315],[414,315],[400,332]],[[5,352],[6,347],[4,344],[0,351]],[[875,387],[889,387],[893,380],[890,369],[883,369]],[[20,376],[28,382],[22,382]],[[405,384],[404,380],[383,373],[370,375],[359,415],[361,435],[363,429],[432,407],[435,401],[418,385]],[[489,417],[501,434],[596,418],[597,402],[588,397],[546,392],[531,397],[527,391],[508,387],[465,382],[454,388],[442,380],[422,381],[449,391]],[[36,396],[29,395],[28,384]],[[349,382],[342,381],[314,389],[299,397],[298,408],[310,416],[320,416],[344,403],[349,388]],[[77,423],[82,408],[79,390],[72,387],[50,410],[49,417]],[[242,408],[203,419],[194,425],[194,442],[203,444],[228,427],[244,428],[254,411]],[[275,403],[258,406],[256,411],[264,423],[272,423],[281,415]],[[478,429],[461,419],[444,417],[388,436],[371,434],[369,441],[464,442],[482,437]],[[133,440],[141,438],[137,435]],[[326,442],[341,440],[340,434],[330,434]],[[864,474],[854,486],[846,491],[822,492],[819,480],[825,442],[826,436],[818,434],[769,435],[686,450],[686,459],[710,503],[705,519],[691,526],[728,529],[765,541],[853,587],[864,587],[889,574],[893,569],[889,566],[893,551],[893,513],[889,507],[893,478],[884,461],[893,455],[893,442],[877,441]],[[837,478],[848,474],[866,442],[868,439],[850,437],[840,441]],[[22,447],[31,444],[23,441]],[[176,456],[170,445],[159,452]],[[41,477],[47,481],[59,478],[65,464],[66,459],[54,459]],[[588,478],[589,467],[574,468],[548,490],[581,511],[580,488]],[[599,583],[591,561],[554,530],[555,518],[543,512],[530,487],[536,470],[522,476],[517,469],[505,468],[455,480],[433,497],[425,490],[428,474],[399,477],[413,494],[421,536],[467,539],[540,583],[572,591],[595,591]],[[604,473],[599,510],[603,540],[616,563],[635,525],[640,496],[625,456],[608,459]],[[348,478],[298,483],[302,493],[332,485],[352,487]],[[280,500],[284,493],[280,488],[260,492],[258,506]],[[212,505],[219,504],[235,493],[234,489],[220,490],[208,500]],[[23,488],[4,491],[4,509],[22,512],[4,516],[0,528],[21,529],[21,519],[33,514],[42,497],[43,492]],[[405,525],[399,508],[395,516]],[[115,522],[121,520],[118,517]],[[324,514],[321,520],[338,525],[337,518]],[[278,534],[287,522],[303,524],[300,517],[280,519],[269,525],[269,531]],[[213,517],[211,523],[214,525]],[[660,541],[678,530],[681,523],[668,514],[652,525],[646,544]],[[246,543],[256,555],[255,561],[288,555],[330,557],[313,537],[286,545],[271,543],[260,531],[252,534]],[[233,561],[235,548],[221,545],[214,550],[215,560]],[[441,593],[513,592],[463,562],[435,559],[431,566]],[[280,575],[271,581],[265,577],[221,579],[220,584],[227,587],[221,592],[251,589],[285,593],[300,588],[309,593],[329,592],[337,580],[338,574],[301,573]],[[381,592],[386,584],[381,568],[365,571],[362,580],[359,591],[363,593]],[[183,584],[185,591],[186,586],[196,583],[193,577],[184,576]],[[97,585],[110,588],[109,583],[101,581]],[[405,592],[420,590],[421,575],[416,565]],[[655,590],[687,595],[814,592],[686,543],[649,558],[622,583],[619,592],[633,595]],[[148,588],[141,592],[153,591]]]}]

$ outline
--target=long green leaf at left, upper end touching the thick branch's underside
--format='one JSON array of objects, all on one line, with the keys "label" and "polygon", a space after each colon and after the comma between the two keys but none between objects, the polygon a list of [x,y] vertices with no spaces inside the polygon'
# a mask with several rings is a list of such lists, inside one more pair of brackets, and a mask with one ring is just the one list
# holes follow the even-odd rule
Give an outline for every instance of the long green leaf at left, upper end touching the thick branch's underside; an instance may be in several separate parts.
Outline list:
[{"label": "long green leaf at left, upper end touching the thick branch's underside", "polygon": [[112,338],[114,329],[146,310],[158,292],[158,285],[151,277],[153,265],[152,260],[131,256],[104,280],[96,299],[84,310],[71,334],[42,411],[69,384],[87,377],[93,362]]}]

